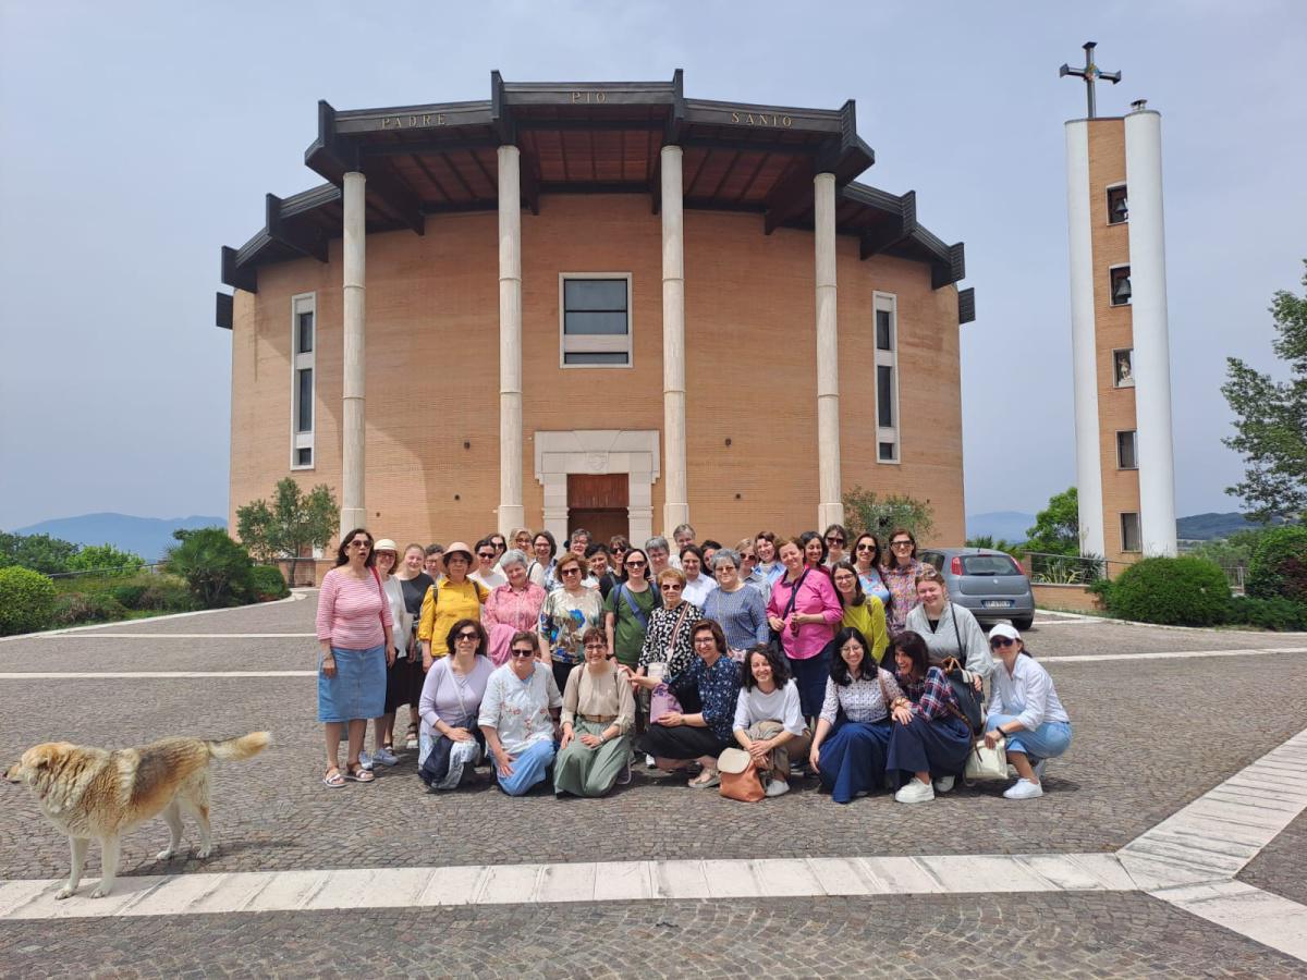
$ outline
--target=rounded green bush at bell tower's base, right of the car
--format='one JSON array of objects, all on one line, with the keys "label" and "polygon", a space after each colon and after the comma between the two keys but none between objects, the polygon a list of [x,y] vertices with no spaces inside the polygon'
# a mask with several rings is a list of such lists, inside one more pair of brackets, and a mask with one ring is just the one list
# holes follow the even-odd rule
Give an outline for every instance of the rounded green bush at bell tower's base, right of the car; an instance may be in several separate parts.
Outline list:
[{"label": "rounded green bush at bell tower's base, right of the car", "polygon": [[1230,583],[1202,558],[1145,558],[1107,589],[1107,610],[1121,619],[1166,626],[1216,626],[1230,614]]}]

